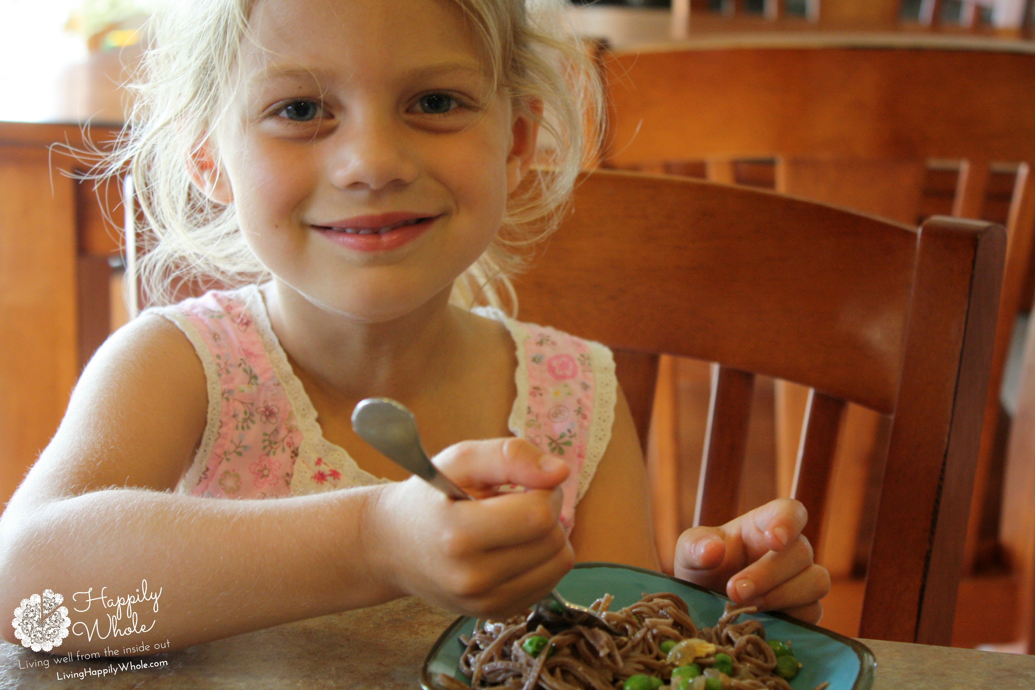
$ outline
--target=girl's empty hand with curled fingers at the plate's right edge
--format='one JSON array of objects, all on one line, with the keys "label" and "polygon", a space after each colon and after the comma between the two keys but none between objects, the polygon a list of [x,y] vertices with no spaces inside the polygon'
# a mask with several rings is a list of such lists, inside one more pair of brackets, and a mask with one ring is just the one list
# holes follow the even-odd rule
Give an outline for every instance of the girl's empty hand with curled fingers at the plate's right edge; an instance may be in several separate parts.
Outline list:
[{"label": "girl's empty hand with curled fingers at the plate's right edge", "polygon": [[801,534],[807,516],[798,501],[777,499],[720,528],[687,530],[676,544],[676,577],[724,589],[738,604],[817,623],[830,574],[812,562],[812,546]]}]

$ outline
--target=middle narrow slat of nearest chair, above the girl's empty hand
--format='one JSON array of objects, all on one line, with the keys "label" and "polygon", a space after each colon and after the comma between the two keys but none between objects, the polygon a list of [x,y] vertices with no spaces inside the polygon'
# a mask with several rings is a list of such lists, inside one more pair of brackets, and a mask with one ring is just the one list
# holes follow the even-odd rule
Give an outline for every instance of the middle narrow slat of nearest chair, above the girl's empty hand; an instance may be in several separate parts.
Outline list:
[{"label": "middle narrow slat of nearest chair, above the girl's empty hand", "polygon": [[718,527],[737,516],[747,450],[755,374],[712,365],[711,401],[693,524]]}]

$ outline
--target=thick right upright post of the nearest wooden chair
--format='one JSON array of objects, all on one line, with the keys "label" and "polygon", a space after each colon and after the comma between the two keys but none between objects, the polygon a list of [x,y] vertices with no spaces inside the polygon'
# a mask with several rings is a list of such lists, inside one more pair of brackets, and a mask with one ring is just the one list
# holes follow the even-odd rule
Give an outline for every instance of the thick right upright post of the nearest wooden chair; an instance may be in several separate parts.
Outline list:
[{"label": "thick right upright post of the nearest wooden chair", "polygon": [[1004,233],[968,232],[982,227],[936,217],[920,230],[862,637],[951,641],[1005,252]]}]

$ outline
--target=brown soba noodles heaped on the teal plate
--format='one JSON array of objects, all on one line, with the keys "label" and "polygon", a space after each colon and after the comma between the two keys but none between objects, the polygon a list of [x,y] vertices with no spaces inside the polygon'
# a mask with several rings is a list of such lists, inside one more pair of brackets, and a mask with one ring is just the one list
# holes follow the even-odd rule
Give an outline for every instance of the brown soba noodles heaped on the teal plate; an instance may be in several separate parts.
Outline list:
[{"label": "brown soba noodles heaped on the teal plate", "polygon": [[[715,650],[693,662],[706,676],[720,678],[723,690],[791,690],[788,682],[774,672],[776,654],[766,642],[762,623],[756,620],[737,623],[741,613],[755,612],[753,606],[728,603],[713,628],[699,629],[690,619],[686,602],[675,594],[645,595],[618,611],[609,610],[612,600],[610,594],[604,595],[590,608],[620,631],[617,636],[584,626],[556,635],[541,626],[529,632],[526,616],[478,621],[470,638],[461,637],[467,647],[460,668],[471,679],[470,686],[445,673],[437,680],[446,690],[615,690],[637,674],[668,683],[673,664],[661,651],[661,643],[699,638],[714,644]],[[548,638],[550,644],[533,655],[523,644],[536,635]],[[548,653],[551,647],[553,650]],[[713,668],[715,656],[720,653],[732,659],[732,672],[728,676],[719,676]],[[826,687],[823,683],[816,690]]]}]

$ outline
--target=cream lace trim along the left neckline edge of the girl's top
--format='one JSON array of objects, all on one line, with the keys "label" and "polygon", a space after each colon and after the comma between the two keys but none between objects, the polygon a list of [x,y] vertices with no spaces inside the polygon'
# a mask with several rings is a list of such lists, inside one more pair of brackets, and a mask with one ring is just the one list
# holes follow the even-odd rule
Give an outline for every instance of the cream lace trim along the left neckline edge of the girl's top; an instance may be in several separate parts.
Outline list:
[{"label": "cream lace trim along the left neckline edge of the girl's top", "polygon": [[[241,289],[241,297],[255,319],[259,338],[266,350],[273,371],[280,380],[280,386],[295,413],[295,422],[302,432],[301,452],[295,460],[295,470],[291,478],[291,494],[317,493],[342,486],[371,486],[388,483],[390,480],[362,470],[347,450],[324,438],[323,429],[317,419],[316,408],[313,407],[313,401],[305,393],[302,382],[291,368],[288,356],[273,332],[262,291],[259,290],[258,286],[248,286]],[[299,468],[299,462],[303,462],[305,467]],[[326,484],[316,481],[314,477],[319,472],[317,464],[328,464],[336,469],[342,474],[341,479]]]}]

